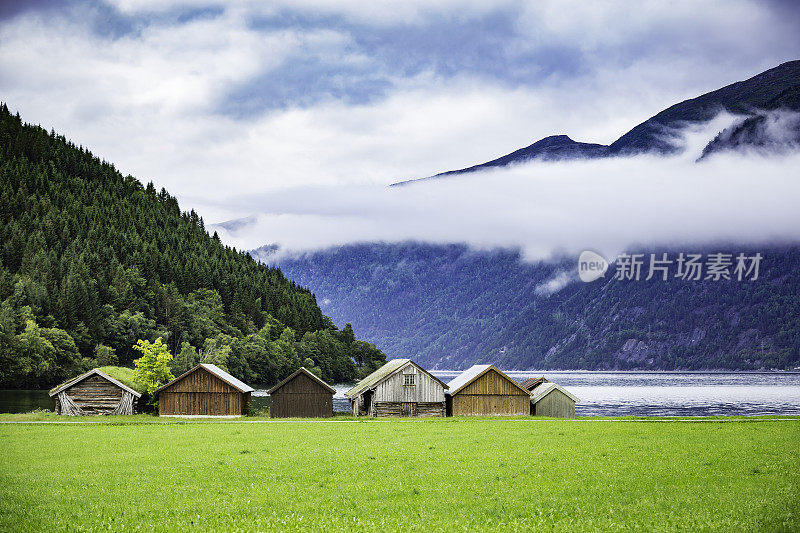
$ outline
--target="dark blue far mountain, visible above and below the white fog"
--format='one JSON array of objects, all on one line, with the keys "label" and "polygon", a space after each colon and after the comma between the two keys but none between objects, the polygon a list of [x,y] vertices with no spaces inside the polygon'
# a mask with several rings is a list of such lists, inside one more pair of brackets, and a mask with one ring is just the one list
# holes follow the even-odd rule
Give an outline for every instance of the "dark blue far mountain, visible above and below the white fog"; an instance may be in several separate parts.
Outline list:
[{"label": "dark blue far mountain, visible above and below the white fog", "polygon": [[[709,139],[700,159],[727,150],[796,150],[800,61],[671,106],[608,146],[556,135],[439,177],[532,159],[670,154],[678,149],[671,132],[720,111],[739,120]],[[727,251],[764,254],[760,279],[623,282],[607,276],[582,283],[576,258],[527,263],[513,249],[417,242],[350,244],[297,256],[276,254],[273,245],[253,257],[311,287],[325,314],[351,322],[390,356],[431,368],[796,368],[800,249]]]}]

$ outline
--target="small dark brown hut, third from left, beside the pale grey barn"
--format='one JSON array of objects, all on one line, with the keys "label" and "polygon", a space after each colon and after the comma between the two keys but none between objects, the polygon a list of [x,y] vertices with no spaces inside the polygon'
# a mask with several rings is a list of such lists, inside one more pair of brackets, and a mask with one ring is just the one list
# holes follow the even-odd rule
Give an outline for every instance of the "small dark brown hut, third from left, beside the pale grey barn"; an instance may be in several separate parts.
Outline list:
[{"label": "small dark brown hut, third from left, beside the pale grey barn", "polygon": [[270,390],[272,418],[321,418],[333,416],[336,389],[305,368],[300,368]]}]

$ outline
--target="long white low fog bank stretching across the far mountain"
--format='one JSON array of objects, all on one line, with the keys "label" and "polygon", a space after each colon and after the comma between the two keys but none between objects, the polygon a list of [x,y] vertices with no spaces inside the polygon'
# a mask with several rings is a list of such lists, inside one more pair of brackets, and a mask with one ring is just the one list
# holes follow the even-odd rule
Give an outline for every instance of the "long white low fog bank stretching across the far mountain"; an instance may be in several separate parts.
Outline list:
[{"label": "long white low fog bank stretching across the far mountain", "polygon": [[631,246],[800,241],[800,154],[721,153],[695,162],[734,120],[722,115],[687,129],[685,150],[674,157],[534,162],[406,187],[229,198],[228,207],[254,216],[230,231],[215,229],[239,249],[418,240],[519,247],[528,260],[583,249],[611,257]]}]

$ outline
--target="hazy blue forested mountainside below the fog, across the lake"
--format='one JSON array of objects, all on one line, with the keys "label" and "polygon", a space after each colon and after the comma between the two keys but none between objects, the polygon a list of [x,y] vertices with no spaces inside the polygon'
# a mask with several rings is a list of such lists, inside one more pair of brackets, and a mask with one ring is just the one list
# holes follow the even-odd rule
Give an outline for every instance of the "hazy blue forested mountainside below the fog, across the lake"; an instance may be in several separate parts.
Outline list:
[{"label": "hazy blue forested mountainside below the fog, across the lake", "polygon": [[434,368],[800,365],[800,249],[727,251],[761,253],[759,279],[620,281],[612,265],[606,278],[582,283],[576,257],[526,263],[514,250],[455,244],[357,244],[278,263],[325,313],[346,317],[390,356]]}]

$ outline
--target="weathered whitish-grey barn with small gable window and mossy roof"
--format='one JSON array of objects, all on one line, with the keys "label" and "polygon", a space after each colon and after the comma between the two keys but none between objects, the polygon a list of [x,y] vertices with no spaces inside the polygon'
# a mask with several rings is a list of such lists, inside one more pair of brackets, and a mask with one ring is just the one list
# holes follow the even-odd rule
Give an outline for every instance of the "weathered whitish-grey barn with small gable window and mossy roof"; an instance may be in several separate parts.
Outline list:
[{"label": "weathered whitish-grey barn with small gable window and mossy roof", "polygon": [[410,359],[392,359],[345,396],[354,416],[444,416],[446,388]]}]

